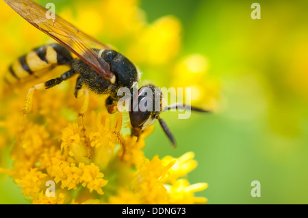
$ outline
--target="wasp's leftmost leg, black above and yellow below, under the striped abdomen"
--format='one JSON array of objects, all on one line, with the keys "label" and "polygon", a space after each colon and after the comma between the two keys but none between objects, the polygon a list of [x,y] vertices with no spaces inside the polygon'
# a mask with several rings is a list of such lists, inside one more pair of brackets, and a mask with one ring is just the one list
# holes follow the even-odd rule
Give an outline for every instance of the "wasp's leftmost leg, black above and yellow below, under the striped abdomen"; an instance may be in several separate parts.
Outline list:
[{"label": "wasp's leftmost leg, black above and yellow below, under the striped abdomen", "polygon": [[68,70],[67,72],[64,72],[64,74],[62,74],[60,77],[51,79],[49,81],[46,81],[44,83],[40,83],[40,84],[34,85],[34,87],[31,87],[31,89],[29,89],[29,92],[25,100],[25,107],[23,108],[23,113],[27,115],[31,111],[33,94],[35,90],[49,89],[55,85],[62,83],[62,81],[69,79],[70,77],[73,77],[74,74],[75,72],[73,70]]}]

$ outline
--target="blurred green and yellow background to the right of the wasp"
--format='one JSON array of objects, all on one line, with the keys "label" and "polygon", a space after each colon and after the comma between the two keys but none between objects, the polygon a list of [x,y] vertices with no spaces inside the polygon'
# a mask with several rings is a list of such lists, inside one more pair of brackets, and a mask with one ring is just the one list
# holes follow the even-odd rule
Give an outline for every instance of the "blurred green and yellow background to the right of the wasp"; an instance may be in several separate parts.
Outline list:
[{"label": "blurred green and yellow background to the right of the wasp", "polygon": [[[60,7],[71,2],[53,0]],[[180,56],[205,55],[207,74],[221,88],[215,113],[188,120],[163,115],[176,149],[156,123],[144,152],[148,158],[194,152],[198,167],[188,180],[209,184],[196,193],[209,204],[307,204],[308,1],[257,1],[260,20],[251,18],[253,2],[140,1],[149,23],[179,18]],[[149,71],[142,78],[153,79]],[[261,182],[261,197],[251,196],[253,180]],[[27,203],[12,179],[0,182],[0,203]]]}]

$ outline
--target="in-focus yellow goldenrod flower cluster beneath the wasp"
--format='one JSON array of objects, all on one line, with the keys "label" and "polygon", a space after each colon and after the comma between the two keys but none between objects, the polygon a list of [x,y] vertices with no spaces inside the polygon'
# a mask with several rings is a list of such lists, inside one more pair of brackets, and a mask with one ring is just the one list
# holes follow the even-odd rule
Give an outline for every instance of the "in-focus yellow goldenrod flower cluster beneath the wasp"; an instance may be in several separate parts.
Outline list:
[{"label": "in-focus yellow goldenrod flower cluster beneath the wasp", "polygon": [[[142,148],[153,127],[139,139],[124,135],[125,115],[108,114],[103,109],[104,99],[94,94],[90,96],[92,104],[84,117],[84,129],[81,118],[77,118],[79,100],[72,98],[72,92],[73,83],[67,83],[36,93],[34,112],[25,123],[21,122],[21,110],[11,109],[16,105],[5,110],[3,124],[6,137],[14,139],[14,165],[12,169],[1,168],[1,172],[14,178],[27,199],[34,204],[206,202],[203,197],[194,197],[194,192],[207,185],[190,185],[183,179],[196,167],[192,152],[178,159],[147,159]],[[62,105],[49,104],[61,99]],[[23,96],[9,102],[21,107]],[[77,119],[70,120],[74,114]],[[50,180],[56,184],[55,197],[45,194]]]}]

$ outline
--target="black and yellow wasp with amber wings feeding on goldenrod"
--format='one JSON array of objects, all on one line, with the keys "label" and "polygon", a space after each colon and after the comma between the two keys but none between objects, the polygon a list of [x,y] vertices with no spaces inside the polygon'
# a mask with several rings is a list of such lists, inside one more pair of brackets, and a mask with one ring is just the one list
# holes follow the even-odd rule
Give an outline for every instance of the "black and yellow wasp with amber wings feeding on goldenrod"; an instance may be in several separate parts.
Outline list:
[{"label": "black and yellow wasp with amber wings feeding on goldenrod", "polygon": [[[20,16],[25,18],[31,25],[46,33],[58,43],[40,46],[31,52],[23,55],[10,65],[5,81],[12,83],[19,81],[31,74],[42,70],[49,70],[55,66],[67,65],[70,70],[64,72],[60,77],[50,79],[44,83],[34,85],[29,89],[25,100],[24,113],[31,111],[31,101],[36,90],[46,90],[62,83],[78,74],[74,95],[76,98],[84,97],[84,105],[79,115],[83,116],[89,103],[89,90],[97,94],[107,95],[105,105],[109,113],[116,112],[116,103],[119,100],[117,90],[120,87],[133,89],[133,84],[138,82],[138,71],[127,57],[114,51],[98,40],[80,31],[74,25],[68,23],[60,16],[55,15],[54,19],[46,17],[47,9],[30,0],[5,0],[10,7]],[[74,54],[76,57],[73,57]],[[159,121],[160,126],[170,139],[173,146],[176,145],[166,122],[160,117],[164,110],[177,109],[183,105],[175,104],[162,108],[162,93],[154,92],[156,86],[153,84],[143,85],[138,89],[136,98],[131,96],[131,103],[140,103],[145,96],[144,88],[153,90],[153,100],[159,99],[161,107],[153,111],[129,110],[131,122],[131,134],[137,137],[144,128]],[[155,94],[156,93],[156,94]],[[159,95],[159,96],[157,96]],[[192,111],[208,112],[205,109],[190,107]]]}]

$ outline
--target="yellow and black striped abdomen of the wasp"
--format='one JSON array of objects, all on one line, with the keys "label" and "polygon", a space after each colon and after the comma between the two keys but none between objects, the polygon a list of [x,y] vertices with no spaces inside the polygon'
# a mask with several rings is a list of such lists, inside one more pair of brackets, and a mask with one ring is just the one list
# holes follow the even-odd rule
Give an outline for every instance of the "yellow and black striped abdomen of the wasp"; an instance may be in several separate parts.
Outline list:
[{"label": "yellow and black striped abdomen of the wasp", "polygon": [[12,63],[4,80],[7,83],[15,83],[31,75],[38,77],[39,72],[49,70],[53,66],[70,65],[72,59],[70,52],[60,44],[40,46]]}]

